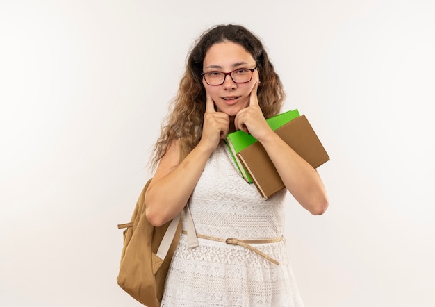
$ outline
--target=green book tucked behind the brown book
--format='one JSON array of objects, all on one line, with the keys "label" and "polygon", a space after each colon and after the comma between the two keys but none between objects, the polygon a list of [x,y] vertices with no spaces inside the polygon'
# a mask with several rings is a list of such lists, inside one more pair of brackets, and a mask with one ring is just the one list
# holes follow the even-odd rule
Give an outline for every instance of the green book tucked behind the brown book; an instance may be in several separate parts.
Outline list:
[{"label": "green book tucked behind the brown book", "polygon": [[[290,122],[292,119],[295,119],[296,117],[299,117],[299,111],[297,109],[289,110],[287,112],[272,116],[266,119],[266,122],[268,122],[270,128],[272,128],[272,130],[275,131],[277,130],[277,128],[284,126],[284,124],[287,124],[288,122]],[[249,173],[247,172],[245,167],[243,167],[243,164],[240,162],[237,154],[242,149],[245,149],[249,145],[257,142],[256,138],[254,138],[249,133],[245,133],[245,131],[238,130],[229,133],[227,135],[227,138],[225,139],[225,142],[227,143],[229,152],[231,153],[231,156],[233,156],[234,163],[236,163],[236,166],[238,167],[243,178],[248,183],[252,183],[251,176],[249,176]]]}]

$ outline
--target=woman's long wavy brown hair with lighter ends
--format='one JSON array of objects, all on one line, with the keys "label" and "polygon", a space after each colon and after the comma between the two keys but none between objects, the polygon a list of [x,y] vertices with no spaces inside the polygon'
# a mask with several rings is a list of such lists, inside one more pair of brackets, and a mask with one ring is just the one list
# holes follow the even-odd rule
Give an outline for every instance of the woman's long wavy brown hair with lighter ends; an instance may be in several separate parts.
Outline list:
[{"label": "woman's long wavy brown hair with lighter ends", "polygon": [[277,115],[285,98],[284,88],[269,60],[261,41],[247,28],[240,25],[218,25],[205,31],[188,53],[186,72],[181,78],[176,97],[170,103],[170,113],[161,128],[151,167],[156,168],[174,140],[180,140],[183,160],[201,139],[206,90],[202,84],[202,63],[208,49],[218,42],[240,44],[254,58],[261,84],[258,85],[258,103],[265,118]]}]

